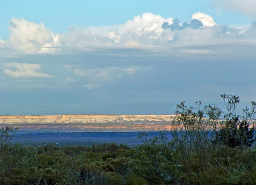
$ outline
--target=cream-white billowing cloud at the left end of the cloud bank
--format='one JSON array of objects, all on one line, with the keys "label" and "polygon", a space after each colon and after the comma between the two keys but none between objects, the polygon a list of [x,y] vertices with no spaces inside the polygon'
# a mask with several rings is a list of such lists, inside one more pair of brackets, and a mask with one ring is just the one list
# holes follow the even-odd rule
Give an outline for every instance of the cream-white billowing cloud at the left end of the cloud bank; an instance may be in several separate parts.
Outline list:
[{"label": "cream-white billowing cloud at the left end of the cloud bank", "polygon": [[59,46],[59,35],[47,30],[43,23],[36,24],[24,18],[13,18],[9,30],[10,44],[22,52],[52,52],[52,47]]}]

